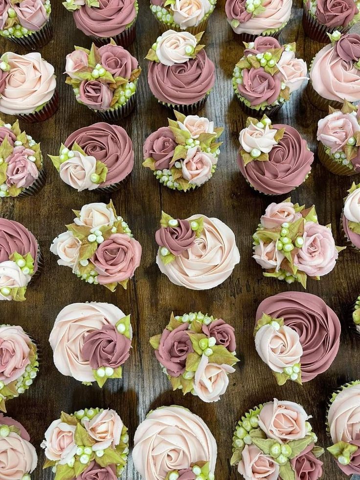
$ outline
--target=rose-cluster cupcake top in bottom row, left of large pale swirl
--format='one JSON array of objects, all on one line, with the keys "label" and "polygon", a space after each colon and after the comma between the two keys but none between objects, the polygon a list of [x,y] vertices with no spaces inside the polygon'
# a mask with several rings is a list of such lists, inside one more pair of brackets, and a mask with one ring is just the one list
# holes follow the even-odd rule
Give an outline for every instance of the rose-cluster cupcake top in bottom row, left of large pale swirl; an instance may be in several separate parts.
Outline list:
[{"label": "rose-cluster cupcake top in bottom row, left of large pale swirl", "polygon": [[54,480],[116,480],[129,455],[127,432],[115,410],[62,411],[45,432],[43,468],[52,467]]}]

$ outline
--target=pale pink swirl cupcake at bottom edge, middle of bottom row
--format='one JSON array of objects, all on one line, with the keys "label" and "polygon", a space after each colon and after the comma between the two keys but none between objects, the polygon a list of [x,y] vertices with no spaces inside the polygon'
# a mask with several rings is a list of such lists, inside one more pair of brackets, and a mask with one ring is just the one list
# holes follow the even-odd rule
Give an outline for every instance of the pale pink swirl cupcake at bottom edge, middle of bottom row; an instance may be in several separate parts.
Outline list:
[{"label": "pale pink swirl cupcake at bottom edge, middle of bottom row", "polygon": [[134,436],[134,466],[144,480],[214,480],[217,453],[205,422],[177,405],[150,411]]}]

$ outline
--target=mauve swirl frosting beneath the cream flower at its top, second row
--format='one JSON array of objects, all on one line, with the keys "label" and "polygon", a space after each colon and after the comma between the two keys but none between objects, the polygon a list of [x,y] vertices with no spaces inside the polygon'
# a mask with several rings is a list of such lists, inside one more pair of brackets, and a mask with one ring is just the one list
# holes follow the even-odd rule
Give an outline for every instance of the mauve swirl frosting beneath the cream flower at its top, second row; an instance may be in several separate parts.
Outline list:
[{"label": "mauve swirl frosting beneath the cream flower at its top, second row", "polygon": [[150,62],[148,82],[154,96],[164,103],[191,105],[202,100],[215,83],[215,67],[204,49],[187,62],[166,66]]}]

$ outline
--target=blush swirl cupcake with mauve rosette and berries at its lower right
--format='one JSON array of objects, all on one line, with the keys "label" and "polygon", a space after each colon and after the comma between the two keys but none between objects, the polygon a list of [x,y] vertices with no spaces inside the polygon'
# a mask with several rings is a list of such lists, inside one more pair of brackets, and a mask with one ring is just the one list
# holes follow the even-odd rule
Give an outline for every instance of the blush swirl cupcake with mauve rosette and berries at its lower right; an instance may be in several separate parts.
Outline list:
[{"label": "blush swirl cupcake with mauve rosette and berries at its lower right", "polygon": [[62,309],[49,342],[60,373],[102,388],[108,378],[122,378],[132,338],[130,315],[110,303],[87,302]]}]

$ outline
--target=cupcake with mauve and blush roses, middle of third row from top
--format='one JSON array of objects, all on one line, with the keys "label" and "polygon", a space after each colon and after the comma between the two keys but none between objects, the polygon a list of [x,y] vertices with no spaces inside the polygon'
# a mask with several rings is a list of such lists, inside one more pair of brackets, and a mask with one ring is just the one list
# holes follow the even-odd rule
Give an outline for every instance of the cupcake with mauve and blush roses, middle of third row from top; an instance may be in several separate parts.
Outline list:
[{"label": "cupcake with mauve and blush roses, middle of third row from top", "polygon": [[218,163],[217,139],[223,128],[199,115],[180,114],[169,119],[168,127],[160,127],[144,143],[143,166],[150,168],[160,183],[172,190],[187,192],[210,180]]}]

